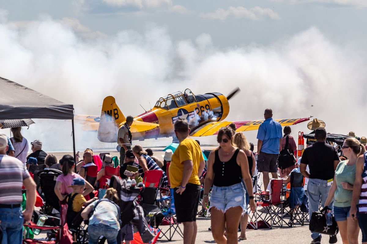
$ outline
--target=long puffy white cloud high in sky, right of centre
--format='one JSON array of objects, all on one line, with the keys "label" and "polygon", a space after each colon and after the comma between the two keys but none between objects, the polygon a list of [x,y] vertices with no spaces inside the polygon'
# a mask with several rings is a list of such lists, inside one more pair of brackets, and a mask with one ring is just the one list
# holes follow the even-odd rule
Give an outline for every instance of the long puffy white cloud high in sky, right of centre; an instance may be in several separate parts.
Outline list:
[{"label": "long puffy white cloud high in sky, right of centre", "polygon": [[228,10],[224,10],[223,8],[218,8],[215,12],[206,14],[201,13],[200,16],[206,19],[219,20],[225,20],[230,17],[251,20],[261,20],[264,19],[264,17],[274,20],[280,19],[279,15],[270,8],[261,8],[259,6],[253,7],[251,9],[244,7],[229,7]]}]

